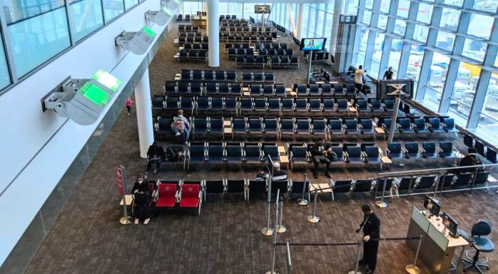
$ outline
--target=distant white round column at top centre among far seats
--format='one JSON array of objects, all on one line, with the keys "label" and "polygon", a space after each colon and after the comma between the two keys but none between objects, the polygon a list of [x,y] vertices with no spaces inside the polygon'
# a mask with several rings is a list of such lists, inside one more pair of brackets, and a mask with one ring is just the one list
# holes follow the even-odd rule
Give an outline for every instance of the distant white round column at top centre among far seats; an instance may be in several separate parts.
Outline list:
[{"label": "distant white round column at top centre among far seats", "polygon": [[220,66],[220,1],[208,1],[209,66]]}]

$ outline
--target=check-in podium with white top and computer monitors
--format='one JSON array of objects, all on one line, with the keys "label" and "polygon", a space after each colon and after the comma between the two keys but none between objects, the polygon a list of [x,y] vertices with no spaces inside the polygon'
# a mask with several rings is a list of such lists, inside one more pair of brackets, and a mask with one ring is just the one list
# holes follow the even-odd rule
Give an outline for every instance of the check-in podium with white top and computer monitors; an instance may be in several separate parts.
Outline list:
[{"label": "check-in podium with white top and computer monitors", "polygon": [[[458,238],[448,236],[441,217],[432,216],[428,218],[428,216],[425,216],[425,211],[420,211],[414,206],[407,238],[420,235],[423,236],[423,240],[418,258],[431,274],[446,274],[450,273],[450,270],[455,270],[456,266],[452,263],[455,249],[462,247],[463,252],[463,248],[469,245],[461,236]],[[407,240],[406,244],[413,253],[417,251],[418,241]]]}]

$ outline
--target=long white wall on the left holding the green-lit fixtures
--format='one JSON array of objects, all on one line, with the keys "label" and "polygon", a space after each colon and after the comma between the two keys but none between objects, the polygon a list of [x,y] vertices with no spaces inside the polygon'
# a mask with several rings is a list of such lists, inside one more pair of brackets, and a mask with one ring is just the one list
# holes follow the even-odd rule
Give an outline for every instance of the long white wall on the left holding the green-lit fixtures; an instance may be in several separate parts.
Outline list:
[{"label": "long white wall on the left holding the green-lit fixtures", "polygon": [[[115,37],[137,31],[144,13],[159,8],[160,0],[145,1],[0,97],[0,193],[10,184],[0,196],[0,265],[105,116],[77,125],[51,110],[43,113],[41,98],[68,75],[90,78],[100,68],[123,81],[121,92],[144,55],[115,47]],[[159,34],[164,26],[152,29]]]}]

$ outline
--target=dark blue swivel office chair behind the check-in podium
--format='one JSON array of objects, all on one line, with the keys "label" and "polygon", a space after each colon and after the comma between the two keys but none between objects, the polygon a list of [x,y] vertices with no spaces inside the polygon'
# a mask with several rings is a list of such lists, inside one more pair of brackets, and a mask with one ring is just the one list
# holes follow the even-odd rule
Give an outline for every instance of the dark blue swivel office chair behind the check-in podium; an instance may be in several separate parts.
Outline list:
[{"label": "dark blue swivel office chair behind the check-in podium", "polygon": [[489,233],[491,233],[491,225],[487,221],[479,220],[472,226],[472,235],[470,238],[473,240],[471,244],[472,247],[475,248],[475,254],[471,258],[470,253],[472,251],[467,251],[465,254],[467,258],[462,258],[462,261],[470,264],[464,267],[464,271],[469,268],[475,268],[479,273],[483,274],[480,267],[489,269],[489,264],[487,263],[488,259],[486,256],[484,255],[484,261],[479,258],[481,253],[494,251],[493,241],[487,237],[484,237],[489,235]]}]

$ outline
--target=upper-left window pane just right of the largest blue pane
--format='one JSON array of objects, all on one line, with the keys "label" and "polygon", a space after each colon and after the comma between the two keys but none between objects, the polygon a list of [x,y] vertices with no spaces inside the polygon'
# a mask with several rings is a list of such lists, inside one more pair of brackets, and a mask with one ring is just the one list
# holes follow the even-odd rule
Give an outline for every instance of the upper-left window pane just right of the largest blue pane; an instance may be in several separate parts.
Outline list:
[{"label": "upper-left window pane just right of the largest blue pane", "polygon": [[[127,0],[128,1],[128,0]],[[83,0],[69,3],[69,23],[72,26],[75,42],[104,25],[100,1]]]}]

